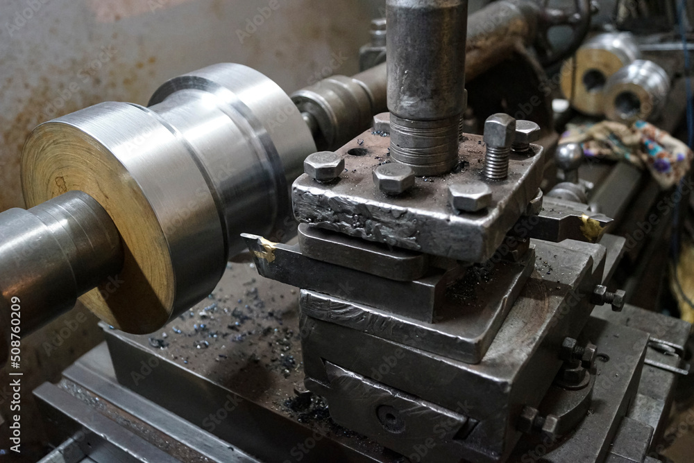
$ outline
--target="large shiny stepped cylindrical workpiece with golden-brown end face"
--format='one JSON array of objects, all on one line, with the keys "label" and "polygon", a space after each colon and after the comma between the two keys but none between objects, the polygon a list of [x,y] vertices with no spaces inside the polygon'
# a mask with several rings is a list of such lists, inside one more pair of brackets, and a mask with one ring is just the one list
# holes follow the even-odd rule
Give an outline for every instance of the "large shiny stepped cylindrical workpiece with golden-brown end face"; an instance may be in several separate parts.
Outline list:
[{"label": "large shiny stepped cylindrical workpiece with golden-brown end face", "polygon": [[216,64],[167,82],[151,107],[101,103],[39,125],[22,186],[29,207],[72,190],[101,204],[124,246],[123,283],[81,301],[118,329],[151,333],[210,294],[242,231],[281,238],[289,185],[315,150],[278,85]]}]

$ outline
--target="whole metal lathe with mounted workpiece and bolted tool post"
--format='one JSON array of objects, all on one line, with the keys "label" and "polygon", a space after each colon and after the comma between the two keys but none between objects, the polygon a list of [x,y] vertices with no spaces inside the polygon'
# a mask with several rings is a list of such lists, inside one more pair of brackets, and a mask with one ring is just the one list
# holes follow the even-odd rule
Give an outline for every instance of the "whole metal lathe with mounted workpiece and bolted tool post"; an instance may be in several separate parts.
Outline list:
[{"label": "whole metal lathe with mounted workpiece and bolted tool post", "polygon": [[26,335],[78,298],[108,343],[34,392],[51,458],[659,461],[690,326],[611,287],[625,239],[548,101],[467,130],[475,78],[541,82],[591,2],[467,3],[387,0],[364,71],[291,96],[214,64],[33,131],[1,358],[14,312]]}]

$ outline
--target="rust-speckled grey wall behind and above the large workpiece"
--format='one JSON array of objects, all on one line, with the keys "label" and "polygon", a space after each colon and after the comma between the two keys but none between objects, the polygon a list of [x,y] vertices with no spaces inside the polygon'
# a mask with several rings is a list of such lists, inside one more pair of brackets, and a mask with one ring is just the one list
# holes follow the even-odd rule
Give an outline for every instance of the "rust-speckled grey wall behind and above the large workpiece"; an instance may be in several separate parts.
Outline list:
[{"label": "rust-speckled grey wall behind and above the large workpiece", "polygon": [[[215,62],[286,91],[355,73],[384,0],[3,0],[0,211],[23,207],[19,153],[39,123],[101,101],[146,104],[168,78]],[[253,22],[255,21],[255,24]],[[333,59],[337,57],[337,59]]]}]

